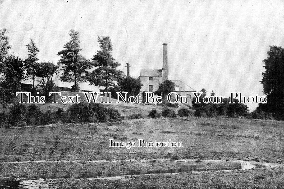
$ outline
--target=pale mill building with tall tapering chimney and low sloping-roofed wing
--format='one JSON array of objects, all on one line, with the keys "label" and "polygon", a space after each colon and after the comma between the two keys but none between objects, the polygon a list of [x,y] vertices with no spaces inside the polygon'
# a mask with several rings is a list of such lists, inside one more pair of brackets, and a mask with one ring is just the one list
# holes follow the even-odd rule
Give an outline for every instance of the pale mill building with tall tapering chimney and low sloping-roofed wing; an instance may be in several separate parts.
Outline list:
[{"label": "pale mill building with tall tapering chimney and low sloping-roofed wing", "polygon": [[[142,83],[141,92],[149,91],[155,92],[159,88],[159,83],[168,80],[168,54],[167,54],[167,44],[163,44],[163,65],[162,69],[159,70],[141,70],[140,81]],[[169,79],[171,80],[171,79]],[[191,101],[193,100],[192,92],[196,92],[193,88],[189,87],[187,84],[180,80],[171,80],[175,83],[175,92],[181,96],[187,96],[189,106],[191,106]]]}]

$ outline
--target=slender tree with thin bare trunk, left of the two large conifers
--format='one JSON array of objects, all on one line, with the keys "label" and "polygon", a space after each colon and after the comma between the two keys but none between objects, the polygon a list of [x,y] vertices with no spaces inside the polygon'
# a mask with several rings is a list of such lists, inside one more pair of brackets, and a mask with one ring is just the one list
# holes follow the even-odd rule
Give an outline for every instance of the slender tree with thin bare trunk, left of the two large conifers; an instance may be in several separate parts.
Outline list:
[{"label": "slender tree with thin bare trunk, left of the two large conifers", "polygon": [[33,88],[35,88],[35,79],[36,79],[36,72],[39,60],[37,58],[37,53],[39,52],[38,48],[36,47],[36,44],[34,43],[33,39],[30,39],[31,42],[26,45],[26,48],[29,51],[28,58],[25,60],[26,70],[27,70],[27,76],[32,78],[33,80]]}]

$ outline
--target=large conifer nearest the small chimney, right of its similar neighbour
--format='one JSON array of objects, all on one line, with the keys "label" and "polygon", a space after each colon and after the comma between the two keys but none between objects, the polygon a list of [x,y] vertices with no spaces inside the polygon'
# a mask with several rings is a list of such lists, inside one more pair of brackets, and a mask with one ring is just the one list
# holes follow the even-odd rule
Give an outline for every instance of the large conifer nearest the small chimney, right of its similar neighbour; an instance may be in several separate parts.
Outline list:
[{"label": "large conifer nearest the small chimney, right of its similar neighbour", "polygon": [[116,62],[111,55],[112,43],[109,36],[98,36],[98,42],[100,44],[100,51],[92,58],[93,65],[97,69],[93,70],[89,74],[90,85],[96,85],[105,87],[105,91],[108,91],[108,87],[112,87],[118,78],[121,78],[124,74],[121,70],[116,70],[120,63]]}]

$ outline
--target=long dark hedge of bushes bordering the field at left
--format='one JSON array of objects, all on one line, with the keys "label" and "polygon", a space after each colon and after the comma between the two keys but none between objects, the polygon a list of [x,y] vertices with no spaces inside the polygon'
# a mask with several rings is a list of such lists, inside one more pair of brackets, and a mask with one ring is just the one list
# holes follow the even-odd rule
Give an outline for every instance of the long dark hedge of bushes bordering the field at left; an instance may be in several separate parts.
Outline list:
[{"label": "long dark hedge of bushes bordering the field at left", "polygon": [[0,126],[34,126],[53,123],[104,123],[120,121],[117,109],[106,108],[103,104],[81,102],[70,106],[66,111],[42,111],[35,104],[16,104],[8,108],[8,113],[0,114]]}]

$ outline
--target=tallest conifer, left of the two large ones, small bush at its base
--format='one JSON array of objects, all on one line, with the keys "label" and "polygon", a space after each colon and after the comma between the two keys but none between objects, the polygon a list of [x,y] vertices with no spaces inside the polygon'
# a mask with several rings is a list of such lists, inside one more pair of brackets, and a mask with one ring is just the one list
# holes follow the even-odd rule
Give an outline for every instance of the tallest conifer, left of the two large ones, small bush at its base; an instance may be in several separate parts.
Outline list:
[{"label": "tallest conifer, left of the two large ones, small bush at its base", "polygon": [[58,65],[62,66],[62,76],[61,81],[74,82],[72,86],[73,91],[79,91],[78,82],[85,82],[87,80],[86,76],[88,74],[88,69],[92,67],[89,60],[80,55],[80,40],[79,32],[70,30],[68,33],[70,36],[70,41],[64,45],[64,49],[58,52],[61,59]]}]

